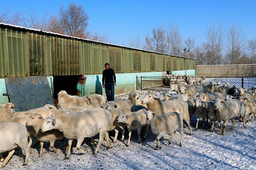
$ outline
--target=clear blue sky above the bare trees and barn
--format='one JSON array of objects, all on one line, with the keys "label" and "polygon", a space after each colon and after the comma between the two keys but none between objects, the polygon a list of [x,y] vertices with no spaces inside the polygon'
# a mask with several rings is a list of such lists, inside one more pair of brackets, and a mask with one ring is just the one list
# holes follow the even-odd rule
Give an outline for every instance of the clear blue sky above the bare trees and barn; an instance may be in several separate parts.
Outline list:
[{"label": "clear blue sky above the bare trees and barn", "polygon": [[242,26],[245,38],[256,38],[255,0],[1,0],[11,12],[29,12],[41,17],[46,12],[58,15],[60,6],[69,2],[82,5],[88,13],[88,28],[107,34],[115,44],[127,44],[138,34],[144,39],[148,31],[173,23],[183,41],[194,38],[197,45],[206,41],[205,31],[214,23],[229,28],[232,23]]}]

